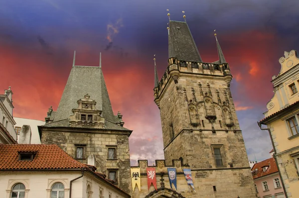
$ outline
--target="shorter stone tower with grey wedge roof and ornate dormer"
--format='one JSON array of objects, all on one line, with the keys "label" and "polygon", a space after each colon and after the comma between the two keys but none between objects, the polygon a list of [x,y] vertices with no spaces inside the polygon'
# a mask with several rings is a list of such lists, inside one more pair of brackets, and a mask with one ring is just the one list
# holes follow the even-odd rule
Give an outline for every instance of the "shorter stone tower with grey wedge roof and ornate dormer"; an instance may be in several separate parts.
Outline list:
[{"label": "shorter stone tower with grey wedge roof and ornate dormer", "polygon": [[[100,55],[101,56],[101,55]],[[97,167],[122,190],[131,192],[129,136],[122,114],[113,113],[101,67],[76,66],[57,111],[49,108],[39,127],[41,143],[57,144],[79,162]]]}]

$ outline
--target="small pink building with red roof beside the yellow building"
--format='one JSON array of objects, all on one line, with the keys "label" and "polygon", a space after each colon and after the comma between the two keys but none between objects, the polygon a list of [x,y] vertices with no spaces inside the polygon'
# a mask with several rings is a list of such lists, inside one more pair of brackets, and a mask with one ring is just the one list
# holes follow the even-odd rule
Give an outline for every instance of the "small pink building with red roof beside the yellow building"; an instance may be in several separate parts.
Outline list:
[{"label": "small pink building with red roof beside the yellow building", "polygon": [[258,198],[285,198],[274,158],[256,163],[251,172]]}]

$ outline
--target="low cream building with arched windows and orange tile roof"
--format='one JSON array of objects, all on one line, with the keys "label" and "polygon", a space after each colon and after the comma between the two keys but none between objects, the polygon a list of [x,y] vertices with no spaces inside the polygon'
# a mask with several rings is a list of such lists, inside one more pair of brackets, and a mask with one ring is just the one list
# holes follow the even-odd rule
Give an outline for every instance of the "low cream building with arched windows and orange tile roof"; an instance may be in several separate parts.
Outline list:
[{"label": "low cream building with arched windows and orange tile roof", "polygon": [[0,144],[1,198],[130,198],[57,145]]}]

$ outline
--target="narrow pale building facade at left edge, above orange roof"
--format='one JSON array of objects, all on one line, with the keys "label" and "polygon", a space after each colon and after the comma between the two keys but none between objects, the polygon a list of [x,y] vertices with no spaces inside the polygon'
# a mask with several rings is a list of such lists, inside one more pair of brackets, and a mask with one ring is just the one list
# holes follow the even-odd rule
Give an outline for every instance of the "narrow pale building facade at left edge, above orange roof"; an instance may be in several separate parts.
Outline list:
[{"label": "narrow pale building facade at left edge, above orange roof", "polygon": [[12,117],[12,91],[10,87],[0,95],[0,143],[15,144],[16,132],[14,130],[15,121]]}]

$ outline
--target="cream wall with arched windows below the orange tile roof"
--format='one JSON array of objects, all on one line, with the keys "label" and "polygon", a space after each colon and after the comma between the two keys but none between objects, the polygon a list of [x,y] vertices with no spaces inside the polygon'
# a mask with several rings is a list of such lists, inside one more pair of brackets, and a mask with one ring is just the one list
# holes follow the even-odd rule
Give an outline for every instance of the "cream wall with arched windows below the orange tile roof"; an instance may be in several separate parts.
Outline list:
[{"label": "cream wall with arched windows below the orange tile roof", "polygon": [[[65,186],[64,198],[69,198],[70,181],[81,176],[81,172],[2,172],[0,171],[0,198],[10,198],[10,190],[16,183],[23,183],[26,187],[25,198],[50,198],[50,189],[55,182]],[[91,198],[99,198],[100,189],[104,198],[125,198],[116,190],[94,178],[89,173],[72,183],[72,198],[87,198],[87,184],[91,185]],[[48,189],[48,190],[47,190]]]}]

